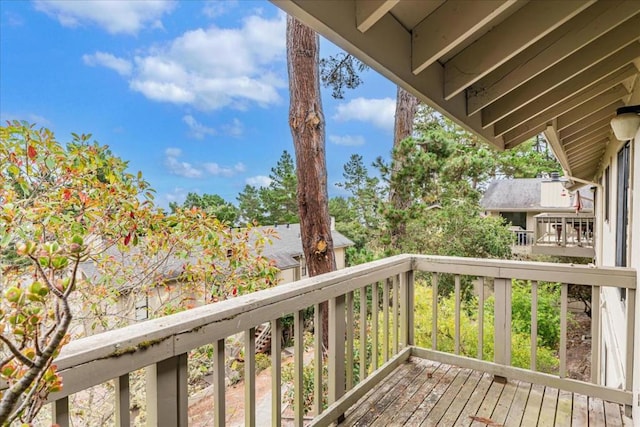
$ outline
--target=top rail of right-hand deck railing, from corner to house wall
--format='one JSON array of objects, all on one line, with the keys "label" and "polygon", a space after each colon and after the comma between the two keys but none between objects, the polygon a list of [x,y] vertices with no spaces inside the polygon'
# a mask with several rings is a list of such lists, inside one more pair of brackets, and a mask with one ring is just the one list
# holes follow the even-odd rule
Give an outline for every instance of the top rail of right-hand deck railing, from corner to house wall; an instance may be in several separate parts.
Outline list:
[{"label": "top rail of right-hand deck railing, from corner to house wall", "polygon": [[637,287],[637,273],[633,268],[436,255],[413,257],[415,268],[421,271],[627,289]]}]

